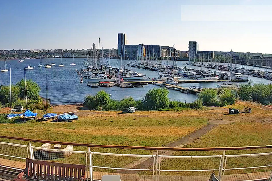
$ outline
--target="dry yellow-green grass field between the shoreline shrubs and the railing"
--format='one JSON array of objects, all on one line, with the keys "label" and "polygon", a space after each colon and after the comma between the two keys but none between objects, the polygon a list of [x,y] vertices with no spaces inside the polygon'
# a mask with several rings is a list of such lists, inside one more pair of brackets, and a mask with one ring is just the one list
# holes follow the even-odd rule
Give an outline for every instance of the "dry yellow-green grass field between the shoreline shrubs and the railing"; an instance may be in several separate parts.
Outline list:
[{"label": "dry yellow-green grass field between the shoreline shrubs and the railing", "polygon": [[[209,120],[232,121],[229,124],[219,124],[213,130],[185,147],[221,147],[269,145],[272,141],[272,110],[258,104],[238,102],[231,107],[243,110],[245,106],[253,108],[250,114],[226,115],[226,108],[209,108],[204,110],[183,111],[148,111],[134,114],[118,114],[119,112],[79,110],[76,114],[79,120],[67,122],[36,122],[22,124],[0,124],[0,135],[24,137],[41,140],[63,142],[78,142],[107,145],[159,146],[163,147],[195,130],[209,124]],[[55,112],[62,112],[58,107]],[[0,110],[3,112],[3,110]],[[5,140],[26,144],[23,141]],[[33,143],[41,146],[40,143]],[[74,147],[74,150],[85,150],[84,147]],[[124,150],[92,148],[92,151],[151,154],[151,150]],[[272,149],[227,151],[226,154],[245,154],[257,152],[272,152]],[[222,151],[211,152],[174,152],[174,155],[214,155]],[[84,163],[82,156],[76,154],[69,160]],[[84,158],[84,156],[83,156]],[[271,156],[228,158],[227,168],[269,165]],[[137,158],[116,158],[116,156],[97,156],[94,164],[104,166],[125,166]],[[218,168],[218,158],[205,159],[165,159],[161,169],[190,170]],[[65,160],[64,160],[65,161]],[[67,161],[67,160],[66,160]],[[271,168],[226,171],[226,174],[252,171],[265,171]],[[167,174],[167,173],[161,173]],[[169,174],[169,173],[168,173]],[[173,174],[173,173],[171,173]],[[181,174],[180,172],[175,174]],[[186,174],[184,172],[183,174]],[[196,174],[196,173],[191,173]],[[208,173],[209,174],[209,173]]]}]

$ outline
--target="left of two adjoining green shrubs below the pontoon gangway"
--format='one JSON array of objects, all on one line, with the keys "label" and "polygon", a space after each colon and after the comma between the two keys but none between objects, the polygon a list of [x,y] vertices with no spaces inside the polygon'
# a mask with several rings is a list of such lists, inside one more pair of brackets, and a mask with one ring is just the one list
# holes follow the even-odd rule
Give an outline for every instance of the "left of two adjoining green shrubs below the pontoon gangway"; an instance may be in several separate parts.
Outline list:
[{"label": "left of two adjoining green shrubs below the pontoon gangway", "polygon": [[218,106],[216,89],[204,89],[198,94],[198,97],[203,101],[203,104],[207,106]]}]

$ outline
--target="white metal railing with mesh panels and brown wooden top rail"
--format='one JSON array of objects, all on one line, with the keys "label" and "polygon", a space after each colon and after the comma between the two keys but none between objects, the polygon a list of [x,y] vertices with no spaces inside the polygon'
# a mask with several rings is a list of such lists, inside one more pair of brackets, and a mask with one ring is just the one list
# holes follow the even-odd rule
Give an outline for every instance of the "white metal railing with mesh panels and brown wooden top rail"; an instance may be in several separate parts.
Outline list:
[{"label": "white metal railing with mesh panels and brown wooden top rail", "polygon": [[[0,138],[13,139],[13,142],[14,140],[25,141],[25,144],[14,144],[6,140],[5,142],[0,142],[0,168],[2,169],[15,169],[22,171],[25,168],[25,158],[30,158],[60,163],[84,164],[86,166],[86,179],[91,181],[101,180],[101,177],[104,174],[121,175],[121,179],[123,181],[195,181],[208,180],[211,172],[216,172],[218,179],[223,181],[272,181],[272,164],[270,164],[272,161],[272,152],[226,154],[226,150],[267,149],[272,148],[271,145],[221,148],[164,148],[52,142],[5,136],[0,136]],[[62,145],[61,148],[63,148],[65,145],[78,146],[78,150],[32,146],[32,144],[37,144],[37,142],[60,144]],[[155,150],[155,152],[151,151],[151,154],[122,154],[94,152],[92,151],[94,148]],[[167,152],[161,152],[160,150],[171,150],[172,153],[167,154]],[[180,150],[216,151],[216,153],[221,154],[206,155],[203,152],[203,155],[172,155],[173,153],[176,154],[176,151]],[[261,151],[263,152],[265,150]],[[177,152],[177,154],[179,154],[179,152]],[[256,159],[250,159],[257,157],[261,157],[261,160],[266,159],[268,164],[260,164]],[[247,164],[243,166],[243,164],[241,164],[241,167],[237,167],[237,165],[232,163],[233,160],[230,160],[232,158],[247,158],[248,160],[244,160],[244,162],[252,162],[252,160],[254,160],[254,162],[251,163],[251,166],[247,166]],[[188,160],[191,161],[188,162]],[[228,163],[230,167],[228,167]]]}]

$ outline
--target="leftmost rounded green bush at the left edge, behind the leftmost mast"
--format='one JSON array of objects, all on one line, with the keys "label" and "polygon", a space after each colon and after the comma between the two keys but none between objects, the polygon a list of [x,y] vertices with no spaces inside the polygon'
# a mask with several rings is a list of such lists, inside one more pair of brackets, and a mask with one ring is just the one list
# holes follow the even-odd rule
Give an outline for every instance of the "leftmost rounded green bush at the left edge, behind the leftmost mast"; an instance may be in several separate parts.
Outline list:
[{"label": "leftmost rounded green bush at the left edge, behind the leftmost mast", "polygon": [[[16,102],[19,98],[20,90],[18,86],[11,85],[11,102]],[[0,88],[0,102],[7,104],[10,102],[9,86],[2,86]]]}]

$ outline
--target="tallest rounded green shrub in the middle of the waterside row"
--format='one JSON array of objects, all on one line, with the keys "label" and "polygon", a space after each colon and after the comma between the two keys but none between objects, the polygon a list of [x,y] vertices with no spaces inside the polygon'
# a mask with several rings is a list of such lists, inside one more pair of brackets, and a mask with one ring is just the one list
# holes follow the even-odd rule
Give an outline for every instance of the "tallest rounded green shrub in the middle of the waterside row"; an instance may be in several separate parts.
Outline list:
[{"label": "tallest rounded green shrub in the middle of the waterside row", "polygon": [[168,108],[169,106],[169,91],[166,88],[150,89],[144,98],[145,110],[158,110]]}]

